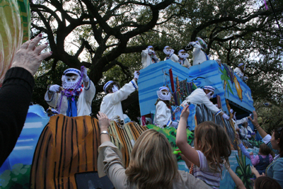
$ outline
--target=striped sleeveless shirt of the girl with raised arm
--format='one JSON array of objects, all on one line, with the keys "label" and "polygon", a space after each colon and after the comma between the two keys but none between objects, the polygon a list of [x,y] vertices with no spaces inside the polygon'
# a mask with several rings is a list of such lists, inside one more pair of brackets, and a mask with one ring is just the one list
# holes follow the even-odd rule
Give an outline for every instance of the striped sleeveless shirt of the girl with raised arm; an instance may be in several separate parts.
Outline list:
[{"label": "striped sleeveless shirt of the girl with raised arm", "polygon": [[202,151],[197,150],[200,158],[200,167],[194,166],[194,176],[195,178],[199,178],[200,180],[207,183],[212,188],[219,188],[220,180],[221,180],[221,171],[214,172],[209,168],[209,164],[207,164],[207,158],[204,156]]}]

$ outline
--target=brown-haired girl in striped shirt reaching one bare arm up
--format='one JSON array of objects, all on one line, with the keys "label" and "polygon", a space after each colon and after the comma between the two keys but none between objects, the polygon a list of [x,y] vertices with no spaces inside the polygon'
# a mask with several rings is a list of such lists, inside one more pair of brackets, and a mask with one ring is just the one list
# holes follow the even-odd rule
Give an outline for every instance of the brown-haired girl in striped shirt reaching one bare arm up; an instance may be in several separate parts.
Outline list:
[{"label": "brown-haired girl in striped shirt reaching one bare arm up", "polygon": [[188,106],[180,115],[177,130],[176,145],[182,151],[182,158],[187,166],[193,167],[193,175],[200,178],[212,188],[219,188],[221,172],[225,166],[229,168],[231,146],[225,130],[214,122],[202,122],[195,127],[195,148],[187,144],[185,133],[187,117],[190,114]]}]

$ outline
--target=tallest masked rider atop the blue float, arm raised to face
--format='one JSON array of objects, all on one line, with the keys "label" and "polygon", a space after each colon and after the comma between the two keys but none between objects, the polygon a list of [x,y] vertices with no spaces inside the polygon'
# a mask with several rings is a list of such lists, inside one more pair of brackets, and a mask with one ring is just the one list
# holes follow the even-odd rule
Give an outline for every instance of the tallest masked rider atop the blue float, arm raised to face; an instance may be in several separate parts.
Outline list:
[{"label": "tallest masked rider atop the blue float, arm raised to face", "polygon": [[202,40],[202,38],[197,38],[197,41],[190,42],[187,47],[189,47],[189,49],[191,47],[194,48],[192,52],[192,66],[202,64],[202,62],[209,60],[210,55],[207,56],[207,54],[202,51],[207,47],[207,44],[204,42],[204,40]]}]

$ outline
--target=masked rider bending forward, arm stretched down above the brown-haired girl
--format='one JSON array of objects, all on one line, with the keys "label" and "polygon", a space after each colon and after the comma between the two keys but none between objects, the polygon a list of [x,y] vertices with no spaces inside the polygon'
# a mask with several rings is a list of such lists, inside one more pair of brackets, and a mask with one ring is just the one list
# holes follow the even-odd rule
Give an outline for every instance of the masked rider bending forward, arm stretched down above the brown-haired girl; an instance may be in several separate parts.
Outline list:
[{"label": "masked rider bending forward, arm stretched down above the brown-haired girl", "polygon": [[212,86],[204,86],[204,88],[197,88],[195,91],[192,91],[190,96],[187,96],[185,101],[181,104],[184,108],[187,103],[193,103],[195,105],[197,104],[204,104],[207,109],[212,111],[214,115],[221,115],[225,120],[229,120],[229,116],[223,113],[219,108],[216,107],[212,103],[212,101],[209,101],[213,97],[214,94],[214,88]]}]

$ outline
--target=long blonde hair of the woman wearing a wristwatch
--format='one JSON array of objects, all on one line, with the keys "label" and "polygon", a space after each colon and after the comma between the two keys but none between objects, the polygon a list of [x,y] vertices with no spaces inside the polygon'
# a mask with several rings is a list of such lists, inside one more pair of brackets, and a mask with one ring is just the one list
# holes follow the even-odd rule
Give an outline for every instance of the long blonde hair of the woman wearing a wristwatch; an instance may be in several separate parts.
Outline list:
[{"label": "long blonde hair of the woman wearing a wristwatch", "polygon": [[146,130],[134,144],[125,173],[130,184],[143,188],[172,188],[178,165],[168,139],[156,130]]}]

